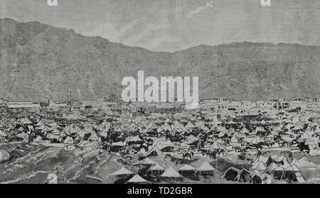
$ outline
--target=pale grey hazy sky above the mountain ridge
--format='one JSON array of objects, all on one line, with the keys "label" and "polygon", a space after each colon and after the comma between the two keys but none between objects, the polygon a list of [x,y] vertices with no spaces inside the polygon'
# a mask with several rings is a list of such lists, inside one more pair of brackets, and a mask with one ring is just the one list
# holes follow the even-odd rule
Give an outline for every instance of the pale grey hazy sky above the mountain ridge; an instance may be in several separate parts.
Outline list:
[{"label": "pale grey hazy sky above the mountain ridge", "polygon": [[0,17],[156,51],[245,40],[320,45],[320,0],[0,0]]}]

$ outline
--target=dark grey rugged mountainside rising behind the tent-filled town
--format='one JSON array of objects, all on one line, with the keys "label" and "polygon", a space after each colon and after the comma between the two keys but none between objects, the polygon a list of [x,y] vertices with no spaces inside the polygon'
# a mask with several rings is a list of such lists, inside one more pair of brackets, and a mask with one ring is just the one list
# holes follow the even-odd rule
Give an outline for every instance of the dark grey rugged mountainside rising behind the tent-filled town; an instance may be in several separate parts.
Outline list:
[{"label": "dark grey rugged mountainside rising behind the tent-filled town", "polygon": [[38,22],[0,19],[0,97],[92,99],[121,94],[122,77],[198,76],[199,97],[320,97],[320,47],[296,44],[199,45],[159,53]]}]

